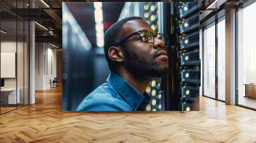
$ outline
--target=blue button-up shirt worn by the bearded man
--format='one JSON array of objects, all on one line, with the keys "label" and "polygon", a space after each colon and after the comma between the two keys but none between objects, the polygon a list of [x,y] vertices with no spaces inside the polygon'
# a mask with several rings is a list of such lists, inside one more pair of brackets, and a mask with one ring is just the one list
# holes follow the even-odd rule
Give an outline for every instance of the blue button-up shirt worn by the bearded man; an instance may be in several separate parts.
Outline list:
[{"label": "blue button-up shirt worn by the bearded man", "polygon": [[147,93],[139,93],[125,79],[111,72],[107,81],[88,94],[80,103],[79,111],[145,110],[150,102]]}]

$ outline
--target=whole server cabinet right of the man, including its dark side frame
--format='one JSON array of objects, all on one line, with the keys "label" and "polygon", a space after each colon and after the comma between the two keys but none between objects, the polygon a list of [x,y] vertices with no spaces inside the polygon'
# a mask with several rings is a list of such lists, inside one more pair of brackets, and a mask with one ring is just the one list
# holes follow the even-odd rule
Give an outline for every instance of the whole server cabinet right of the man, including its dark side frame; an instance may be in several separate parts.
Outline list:
[{"label": "whole server cabinet right of the man, including its dark side frame", "polygon": [[170,3],[164,10],[170,13],[164,26],[170,39],[169,97],[165,99],[170,104],[165,110],[199,110],[199,3]]}]

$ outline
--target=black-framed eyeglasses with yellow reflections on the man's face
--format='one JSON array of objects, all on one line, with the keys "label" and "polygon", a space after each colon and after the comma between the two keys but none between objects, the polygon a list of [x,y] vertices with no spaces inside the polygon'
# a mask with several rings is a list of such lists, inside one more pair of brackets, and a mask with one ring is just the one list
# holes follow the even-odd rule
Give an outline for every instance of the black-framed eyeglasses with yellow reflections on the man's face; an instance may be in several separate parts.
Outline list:
[{"label": "black-framed eyeglasses with yellow reflections on the man's face", "polygon": [[134,36],[136,34],[140,35],[141,41],[144,41],[146,43],[154,43],[154,38],[164,41],[164,34],[162,34],[162,33],[154,34],[154,33],[151,33],[150,31],[137,31],[132,34],[129,34],[124,39],[118,41],[116,43],[116,46],[124,44],[125,41],[127,41],[129,38],[131,38],[132,36]]}]

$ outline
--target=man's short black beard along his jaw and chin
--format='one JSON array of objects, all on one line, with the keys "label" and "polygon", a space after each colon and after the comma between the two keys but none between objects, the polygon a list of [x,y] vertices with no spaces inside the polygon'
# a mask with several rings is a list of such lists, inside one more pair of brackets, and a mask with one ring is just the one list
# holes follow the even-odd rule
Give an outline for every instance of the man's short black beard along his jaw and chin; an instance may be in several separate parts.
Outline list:
[{"label": "man's short black beard along his jaw and chin", "polygon": [[135,54],[128,47],[124,47],[124,66],[129,73],[140,80],[152,80],[163,77],[168,73],[168,66],[159,66],[154,59],[147,61],[142,56]]}]

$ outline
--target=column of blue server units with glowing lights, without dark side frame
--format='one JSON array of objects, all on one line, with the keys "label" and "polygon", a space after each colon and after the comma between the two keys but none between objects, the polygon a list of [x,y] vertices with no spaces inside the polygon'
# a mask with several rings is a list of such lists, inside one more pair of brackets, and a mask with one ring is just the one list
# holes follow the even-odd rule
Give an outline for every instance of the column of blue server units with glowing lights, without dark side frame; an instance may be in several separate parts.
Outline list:
[{"label": "column of blue server units with glowing lights, without dark side frame", "polygon": [[177,92],[180,94],[179,109],[187,112],[199,110],[199,3],[173,5],[177,31],[177,72],[180,82]]}]

